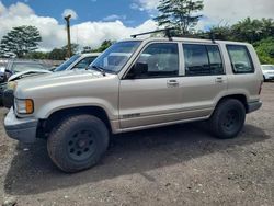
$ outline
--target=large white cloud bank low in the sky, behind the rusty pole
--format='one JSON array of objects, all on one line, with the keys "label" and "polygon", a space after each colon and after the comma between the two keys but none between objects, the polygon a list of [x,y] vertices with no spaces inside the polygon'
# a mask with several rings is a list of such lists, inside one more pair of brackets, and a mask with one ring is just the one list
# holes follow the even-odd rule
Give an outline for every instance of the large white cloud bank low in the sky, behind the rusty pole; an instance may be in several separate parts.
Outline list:
[{"label": "large white cloud bank low in the sky, behind the rusty pole", "polygon": [[[4,7],[0,1],[0,39],[12,27],[34,25],[41,32],[43,42],[41,50],[50,50],[67,44],[66,26],[54,18],[38,16],[24,3]],[[104,39],[119,41],[132,34],[155,30],[156,23],[151,20],[137,27],[127,27],[121,21],[83,22],[71,26],[71,42],[80,46],[98,47]]]}]

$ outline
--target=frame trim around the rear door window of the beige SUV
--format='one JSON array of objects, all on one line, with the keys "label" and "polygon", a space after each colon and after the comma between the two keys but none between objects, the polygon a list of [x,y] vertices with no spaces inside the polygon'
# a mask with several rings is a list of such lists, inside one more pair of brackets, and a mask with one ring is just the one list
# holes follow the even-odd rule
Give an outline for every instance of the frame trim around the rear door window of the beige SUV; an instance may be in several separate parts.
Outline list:
[{"label": "frame trim around the rear door window of the beige SUV", "polygon": [[[218,52],[219,52],[219,55],[220,55],[220,60],[221,60],[221,66],[222,66],[222,72],[219,73],[219,75],[193,75],[193,76],[189,76],[186,75],[186,69],[185,69],[185,58],[184,58],[184,45],[198,45],[198,46],[204,46],[205,49],[206,49],[206,56],[207,56],[207,60],[208,60],[208,64],[209,64],[209,67],[212,67],[212,62],[210,62],[210,58],[209,58],[209,54],[208,54],[208,48],[207,46],[216,46],[218,48]],[[184,77],[208,77],[208,76],[225,76],[227,72],[226,72],[226,65],[225,65],[225,61],[224,61],[224,56],[222,56],[222,53],[221,53],[221,49],[220,49],[220,46],[218,44],[204,44],[204,43],[182,43],[182,47],[183,47],[183,58],[184,58]]]}]

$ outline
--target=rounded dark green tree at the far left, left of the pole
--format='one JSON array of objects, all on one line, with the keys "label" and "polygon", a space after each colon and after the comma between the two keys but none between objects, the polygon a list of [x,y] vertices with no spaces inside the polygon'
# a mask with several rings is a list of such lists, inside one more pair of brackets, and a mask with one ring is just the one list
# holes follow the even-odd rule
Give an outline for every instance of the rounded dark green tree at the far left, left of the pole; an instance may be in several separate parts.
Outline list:
[{"label": "rounded dark green tree at the far left, left of the pole", "polygon": [[3,36],[0,50],[3,55],[13,53],[18,57],[23,57],[27,53],[36,50],[39,42],[42,42],[42,37],[35,26],[18,26]]}]

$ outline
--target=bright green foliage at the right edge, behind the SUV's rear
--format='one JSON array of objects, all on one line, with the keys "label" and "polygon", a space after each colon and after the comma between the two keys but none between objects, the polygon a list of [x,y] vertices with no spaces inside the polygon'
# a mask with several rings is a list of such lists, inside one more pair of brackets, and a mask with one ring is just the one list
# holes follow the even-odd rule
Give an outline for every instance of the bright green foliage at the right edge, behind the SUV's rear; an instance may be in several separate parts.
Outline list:
[{"label": "bright green foliage at the right edge, behind the SUV's rear", "polygon": [[261,64],[274,65],[274,37],[260,41],[254,46]]}]

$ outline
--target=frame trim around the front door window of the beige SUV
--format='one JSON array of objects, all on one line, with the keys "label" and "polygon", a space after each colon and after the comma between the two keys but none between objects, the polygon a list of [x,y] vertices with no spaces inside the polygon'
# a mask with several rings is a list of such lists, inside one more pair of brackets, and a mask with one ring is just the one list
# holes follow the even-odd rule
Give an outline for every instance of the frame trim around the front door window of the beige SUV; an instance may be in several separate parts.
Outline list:
[{"label": "frame trim around the front door window of the beige SUV", "polygon": [[[133,66],[137,62],[137,60],[139,59],[140,55],[144,53],[144,50],[146,50],[150,45],[152,44],[174,44],[178,46],[178,75],[175,76],[169,76],[169,77],[144,77],[144,78],[136,78],[136,79],[128,79],[127,75],[130,71],[130,69],[133,68]],[[128,69],[124,72],[122,80],[141,80],[141,79],[168,79],[168,78],[178,78],[178,77],[183,77],[182,76],[182,69],[181,69],[181,50],[180,50],[180,43],[179,42],[149,42],[146,45],[144,45],[144,47],[141,48],[141,50],[138,53],[138,55],[136,56],[136,58],[133,60],[133,62],[129,65]]]}]

